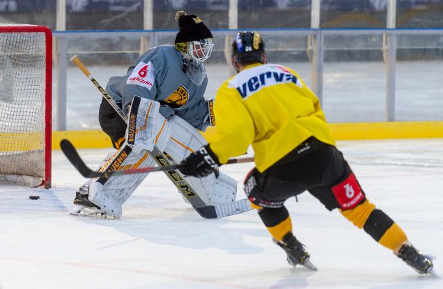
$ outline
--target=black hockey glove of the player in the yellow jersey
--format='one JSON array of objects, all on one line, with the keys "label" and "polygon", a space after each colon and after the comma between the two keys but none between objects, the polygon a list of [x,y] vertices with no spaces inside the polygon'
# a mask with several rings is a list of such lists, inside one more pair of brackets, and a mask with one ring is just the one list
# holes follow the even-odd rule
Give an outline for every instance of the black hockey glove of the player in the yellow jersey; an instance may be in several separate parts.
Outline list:
[{"label": "black hockey glove of the player in the yellow jersey", "polygon": [[219,158],[210,149],[209,145],[201,147],[198,151],[191,153],[180,163],[180,171],[186,176],[203,178],[212,174],[221,164]]}]

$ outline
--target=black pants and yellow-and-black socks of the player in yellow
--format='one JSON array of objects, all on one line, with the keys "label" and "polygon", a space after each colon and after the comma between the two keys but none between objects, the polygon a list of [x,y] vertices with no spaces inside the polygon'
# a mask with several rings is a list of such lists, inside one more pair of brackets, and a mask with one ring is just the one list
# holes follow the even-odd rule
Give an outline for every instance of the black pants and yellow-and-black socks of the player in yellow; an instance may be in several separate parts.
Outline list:
[{"label": "black pants and yellow-and-black socks of the player in yellow", "polygon": [[338,208],[349,221],[391,250],[407,240],[403,230],[370,203],[352,169],[336,147],[307,139],[266,171],[252,169],[244,190],[273,237],[279,241],[292,225],[284,201],[308,191],[329,210]]}]

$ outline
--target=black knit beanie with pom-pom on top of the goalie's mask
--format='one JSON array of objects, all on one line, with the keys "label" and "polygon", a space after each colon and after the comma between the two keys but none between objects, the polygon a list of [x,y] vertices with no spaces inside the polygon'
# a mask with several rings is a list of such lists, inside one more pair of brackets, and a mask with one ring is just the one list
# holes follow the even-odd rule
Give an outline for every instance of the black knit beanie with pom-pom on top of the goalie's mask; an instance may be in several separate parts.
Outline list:
[{"label": "black knit beanie with pom-pom on top of the goalie's mask", "polygon": [[175,19],[179,21],[180,28],[177,37],[175,37],[175,43],[213,38],[213,34],[199,17],[186,15],[184,11],[179,11],[175,14]]}]

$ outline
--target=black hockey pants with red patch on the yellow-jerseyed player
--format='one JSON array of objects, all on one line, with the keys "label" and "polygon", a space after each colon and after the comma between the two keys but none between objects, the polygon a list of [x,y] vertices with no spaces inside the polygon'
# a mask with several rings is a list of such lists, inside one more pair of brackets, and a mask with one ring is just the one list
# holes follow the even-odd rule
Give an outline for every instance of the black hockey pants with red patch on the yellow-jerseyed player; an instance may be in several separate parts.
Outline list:
[{"label": "black hockey pants with red patch on the yellow-jerseyed player", "polygon": [[352,209],[365,201],[365,194],[341,151],[314,137],[266,171],[251,170],[244,189],[249,200],[261,207],[282,207],[287,198],[305,191],[329,210]]}]

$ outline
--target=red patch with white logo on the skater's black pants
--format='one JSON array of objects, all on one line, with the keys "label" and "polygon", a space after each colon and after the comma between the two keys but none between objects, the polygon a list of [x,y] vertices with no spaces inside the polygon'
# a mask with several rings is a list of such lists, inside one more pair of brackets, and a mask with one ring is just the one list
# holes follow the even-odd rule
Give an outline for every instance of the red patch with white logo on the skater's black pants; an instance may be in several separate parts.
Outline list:
[{"label": "red patch with white logo on the skater's black pants", "polygon": [[354,209],[365,197],[352,173],[342,183],[332,187],[332,192],[343,210]]}]

